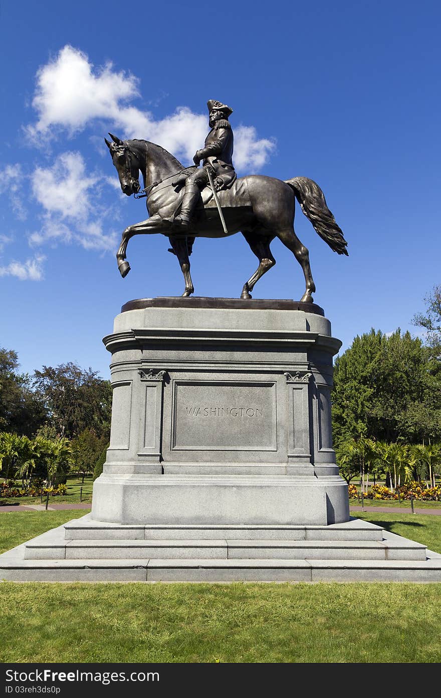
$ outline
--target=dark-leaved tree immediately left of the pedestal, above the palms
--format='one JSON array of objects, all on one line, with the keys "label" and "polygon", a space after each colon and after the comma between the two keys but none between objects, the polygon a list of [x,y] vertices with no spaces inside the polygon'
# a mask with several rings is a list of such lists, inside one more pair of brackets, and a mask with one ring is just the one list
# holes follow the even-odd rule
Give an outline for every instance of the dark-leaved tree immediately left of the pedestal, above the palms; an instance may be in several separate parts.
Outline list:
[{"label": "dark-leaved tree immediately left of the pedestal, above the palms", "polygon": [[111,386],[97,371],[72,362],[42,366],[34,371],[34,387],[47,408],[49,425],[60,437],[74,438],[89,428],[109,438]]}]

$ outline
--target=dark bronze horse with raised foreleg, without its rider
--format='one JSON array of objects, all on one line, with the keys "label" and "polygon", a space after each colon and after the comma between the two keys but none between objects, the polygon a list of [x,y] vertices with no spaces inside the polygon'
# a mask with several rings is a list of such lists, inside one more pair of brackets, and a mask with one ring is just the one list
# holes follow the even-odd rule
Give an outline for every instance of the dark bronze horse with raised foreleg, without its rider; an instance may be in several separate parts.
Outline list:
[{"label": "dark bronze horse with raised foreleg, without its rider", "polygon": [[[204,190],[196,216],[188,232],[183,235],[173,226],[173,218],[179,211],[182,185],[191,168],[183,168],[167,150],[146,140],[121,140],[109,134],[113,142],[105,139],[112,161],[118,171],[123,193],[130,196],[141,190],[139,170],[147,192],[146,205],[149,218],[129,225],[123,232],[116,255],[121,276],[130,272],[126,259],[127,243],[133,235],[160,233],[169,238],[185,280],[183,296],[194,292],[190,276],[189,255],[196,237],[225,237],[214,200],[207,201],[210,190]],[[256,281],[274,266],[276,260],[270,251],[274,237],[291,250],[300,263],[306,282],[301,302],[313,302],[316,285],[309,267],[309,253],[294,232],[294,209],[297,198],[302,211],[318,235],[338,254],[347,255],[346,240],[328,209],[323,191],[307,177],[294,177],[281,181],[263,175],[249,175],[237,179],[231,188],[217,193],[224,212],[227,235],[242,232],[259,260],[254,274],[245,282],[241,298],[251,298]]]}]

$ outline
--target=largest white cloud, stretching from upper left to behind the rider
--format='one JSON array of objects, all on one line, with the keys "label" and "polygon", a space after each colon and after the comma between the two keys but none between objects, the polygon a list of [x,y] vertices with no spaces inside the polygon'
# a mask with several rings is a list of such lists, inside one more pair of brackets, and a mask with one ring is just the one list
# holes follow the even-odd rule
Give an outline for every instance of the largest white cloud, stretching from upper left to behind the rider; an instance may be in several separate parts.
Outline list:
[{"label": "largest white cloud, stretching from upper left to behind the rider", "polygon": [[[35,140],[50,138],[60,128],[74,135],[94,119],[104,119],[109,130],[125,138],[144,138],[159,143],[178,158],[192,161],[207,133],[207,114],[195,114],[180,106],[174,114],[155,121],[153,114],[130,104],[139,97],[139,80],[130,73],[113,70],[111,63],[95,69],[88,57],[66,45],[37,73],[33,107],[36,124],[27,127]],[[235,129],[238,170],[262,168],[274,149],[274,140],[258,139],[254,126]]]}]

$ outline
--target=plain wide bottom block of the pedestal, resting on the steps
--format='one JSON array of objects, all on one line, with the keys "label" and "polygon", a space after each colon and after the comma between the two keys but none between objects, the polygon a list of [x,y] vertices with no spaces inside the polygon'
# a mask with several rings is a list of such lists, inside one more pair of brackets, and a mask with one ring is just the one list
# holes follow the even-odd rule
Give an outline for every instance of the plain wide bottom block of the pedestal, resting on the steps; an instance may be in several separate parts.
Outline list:
[{"label": "plain wide bottom block of the pedestal, resting on the steps", "polygon": [[96,521],[146,524],[311,524],[349,519],[337,477],[276,475],[101,475]]}]

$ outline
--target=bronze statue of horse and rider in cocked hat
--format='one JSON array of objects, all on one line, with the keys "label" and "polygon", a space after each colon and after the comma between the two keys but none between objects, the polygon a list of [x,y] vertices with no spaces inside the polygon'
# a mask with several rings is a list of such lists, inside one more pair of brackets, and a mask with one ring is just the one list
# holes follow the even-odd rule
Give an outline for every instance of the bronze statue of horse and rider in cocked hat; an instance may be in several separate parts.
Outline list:
[{"label": "bronze statue of horse and rider in cocked hat", "polygon": [[[226,237],[242,232],[259,265],[245,282],[241,298],[251,298],[258,279],[274,266],[270,251],[274,237],[291,250],[300,263],[306,288],[300,302],[312,303],[316,285],[309,253],[294,232],[295,199],[318,235],[339,255],[347,255],[346,240],[326,205],[318,184],[307,177],[274,179],[260,174],[237,177],[233,167],[233,110],[210,99],[207,103],[210,133],[196,151],[194,165],[184,168],[167,150],[146,140],[121,140],[109,133],[105,139],[118,172],[123,193],[146,198],[149,218],[129,225],[116,254],[123,278],[130,272],[127,243],[133,235],[160,233],[169,238],[185,281],[183,296],[194,292],[189,255],[196,237]],[[202,167],[200,163],[202,161]],[[141,172],[144,189],[139,184]]]}]

